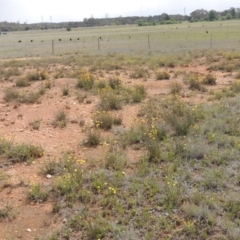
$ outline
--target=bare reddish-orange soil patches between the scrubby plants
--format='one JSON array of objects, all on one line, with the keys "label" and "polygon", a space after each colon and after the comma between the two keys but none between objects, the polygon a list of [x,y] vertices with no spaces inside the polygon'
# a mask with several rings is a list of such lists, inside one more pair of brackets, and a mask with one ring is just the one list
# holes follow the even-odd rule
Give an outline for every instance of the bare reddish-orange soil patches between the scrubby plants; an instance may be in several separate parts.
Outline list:
[{"label": "bare reddish-orange soil patches between the scrubby plants", "polygon": [[[187,67],[174,69],[183,72],[195,71],[207,73],[206,66]],[[232,76],[226,76],[221,72],[214,73],[217,76],[217,85],[208,89],[222,88],[233,81]],[[173,74],[171,74],[173,75]],[[154,95],[165,95],[169,93],[169,84],[172,81],[182,82],[182,76],[170,80],[156,81],[151,76],[147,81],[133,80],[127,75],[120,75],[127,85],[134,85],[141,82],[147,88],[148,97]],[[74,94],[76,79],[62,78],[52,80],[53,86],[47,90],[46,94],[37,104],[14,104],[6,103],[3,100],[3,89],[12,86],[12,82],[1,83],[0,91],[0,133],[2,137],[11,139],[13,142],[31,143],[40,145],[44,149],[41,159],[35,160],[31,164],[18,163],[5,165],[4,159],[0,160],[0,171],[5,172],[7,180],[0,181],[0,209],[8,204],[12,206],[15,218],[12,220],[2,219],[0,221],[0,240],[4,239],[34,239],[46,236],[48,233],[62,226],[63,219],[52,213],[52,202],[32,203],[27,199],[27,191],[31,184],[42,183],[50,186],[53,178],[47,179],[40,174],[40,169],[45,161],[50,158],[59,157],[61,153],[71,150],[81,159],[92,156],[101,159],[104,146],[94,149],[84,149],[81,142],[85,139],[83,127],[79,126],[79,121],[84,120],[91,123],[92,114],[96,111],[99,103],[97,95],[89,95],[91,103],[79,103]],[[32,84],[29,89],[37,89],[39,82]],[[62,96],[62,87],[70,87],[70,96]],[[194,93],[191,97],[187,85],[184,85],[182,97],[187,101],[206,101],[208,93]],[[146,100],[145,100],[146,101]],[[137,117],[140,105],[127,105],[118,113],[123,117],[123,128],[128,128]],[[52,121],[58,110],[64,110],[68,116],[66,128],[54,128]],[[35,119],[41,119],[39,130],[33,130],[29,123]],[[112,133],[106,133],[111,136]],[[129,161],[134,164],[138,159],[137,152],[129,151]],[[2,186],[4,182],[5,187]],[[6,186],[6,182],[8,186]]]}]

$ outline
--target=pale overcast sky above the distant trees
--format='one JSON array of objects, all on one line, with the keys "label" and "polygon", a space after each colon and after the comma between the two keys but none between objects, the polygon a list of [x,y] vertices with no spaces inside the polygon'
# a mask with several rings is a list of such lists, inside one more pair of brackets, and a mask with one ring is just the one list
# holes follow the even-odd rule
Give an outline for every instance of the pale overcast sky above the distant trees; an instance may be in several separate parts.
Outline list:
[{"label": "pale overcast sky above the distant trees", "polygon": [[196,9],[240,8],[239,0],[0,0],[0,22],[35,23],[82,21],[118,16],[189,15]]}]

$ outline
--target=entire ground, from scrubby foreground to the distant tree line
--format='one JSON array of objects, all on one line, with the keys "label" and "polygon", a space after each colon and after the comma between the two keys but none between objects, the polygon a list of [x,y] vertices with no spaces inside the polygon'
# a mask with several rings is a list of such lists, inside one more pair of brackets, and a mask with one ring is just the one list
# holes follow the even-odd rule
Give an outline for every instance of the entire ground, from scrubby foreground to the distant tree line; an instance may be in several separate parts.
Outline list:
[{"label": "entire ground, from scrubby foreground to the distant tree line", "polygon": [[0,239],[238,240],[239,23],[1,36]]}]

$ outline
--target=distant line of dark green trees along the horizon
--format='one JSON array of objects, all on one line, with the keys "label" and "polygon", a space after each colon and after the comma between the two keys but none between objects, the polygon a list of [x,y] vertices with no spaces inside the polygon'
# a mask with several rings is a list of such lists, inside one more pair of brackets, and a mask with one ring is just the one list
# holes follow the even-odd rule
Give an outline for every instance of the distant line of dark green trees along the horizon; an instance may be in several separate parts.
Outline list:
[{"label": "distant line of dark green trees along the horizon", "polygon": [[7,31],[28,31],[28,30],[45,30],[45,29],[59,29],[66,28],[68,31],[72,28],[79,27],[95,27],[107,25],[130,25],[136,24],[138,26],[151,26],[158,24],[174,24],[182,21],[198,22],[198,21],[224,21],[230,19],[240,19],[240,8],[230,8],[222,12],[215,10],[207,11],[204,9],[197,9],[187,15],[168,15],[163,13],[161,15],[148,16],[148,17],[115,17],[115,18],[84,18],[79,22],[60,22],[60,23],[15,23],[15,22],[1,22],[0,32]]}]

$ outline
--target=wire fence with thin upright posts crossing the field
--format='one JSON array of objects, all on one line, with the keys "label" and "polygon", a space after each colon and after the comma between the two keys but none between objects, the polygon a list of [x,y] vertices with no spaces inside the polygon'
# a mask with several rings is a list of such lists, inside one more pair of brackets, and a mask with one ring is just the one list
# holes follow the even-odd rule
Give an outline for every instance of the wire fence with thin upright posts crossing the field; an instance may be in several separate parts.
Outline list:
[{"label": "wire fence with thin upright posts crossing the field", "polygon": [[151,33],[105,34],[100,36],[38,36],[22,39],[11,36],[0,37],[0,58],[45,57],[65,54],[106,54],[160,52],[177,53],[182,51],[215,49],[240,49],[240,30],[181,32],[173,31]]}]

